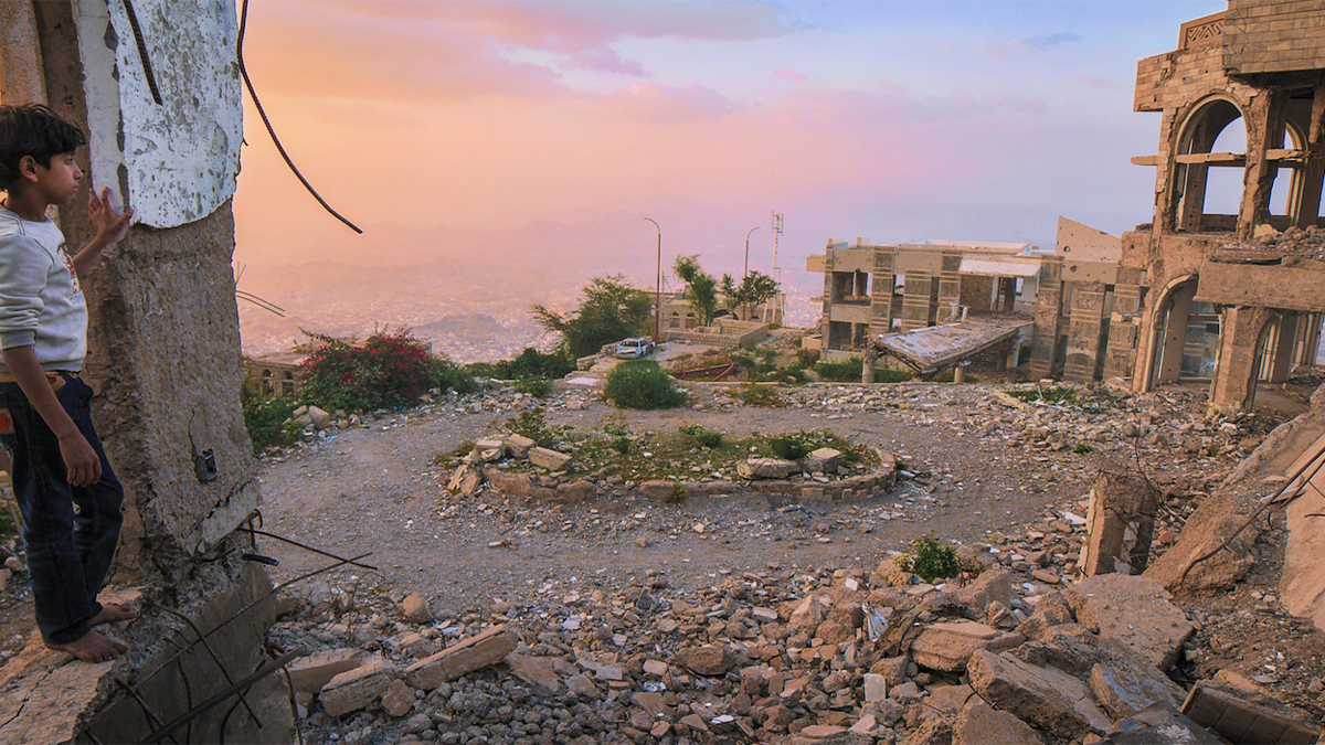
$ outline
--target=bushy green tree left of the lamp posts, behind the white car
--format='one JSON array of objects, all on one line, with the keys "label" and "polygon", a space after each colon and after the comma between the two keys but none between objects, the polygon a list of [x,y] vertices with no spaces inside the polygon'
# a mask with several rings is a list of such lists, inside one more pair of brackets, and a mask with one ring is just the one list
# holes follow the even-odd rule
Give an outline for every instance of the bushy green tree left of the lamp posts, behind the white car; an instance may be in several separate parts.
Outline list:
[{"label": "bushy green tree left of the lamp posts, behind the white car", "polygon": [[627,285],[620,274],[594,277],[580,293],[584,301],[572,314],[562,315],[542,305],[531,310],[539,326],[560,333],[572,355],[595,354],[603,345],[648,333],[649,296]]}]

